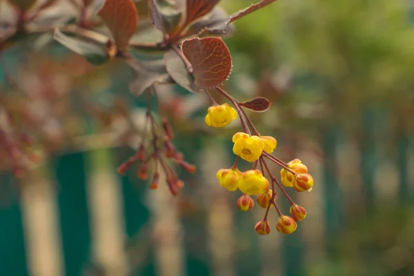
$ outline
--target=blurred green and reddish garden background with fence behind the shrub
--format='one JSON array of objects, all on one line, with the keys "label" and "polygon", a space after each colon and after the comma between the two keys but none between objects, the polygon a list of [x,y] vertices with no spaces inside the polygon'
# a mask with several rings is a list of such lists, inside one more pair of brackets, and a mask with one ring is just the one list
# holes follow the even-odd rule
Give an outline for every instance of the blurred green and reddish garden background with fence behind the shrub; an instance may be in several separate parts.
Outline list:
[{"label": "blurred green and reddish garden background with fence behind the shrub", "polygon": [[50,34],[23,41],[1,52],[0,103],[41,161],[0,174],[1,276],[414,275],[414,1],[279,0],[225,39],[226,90],[270,99],[249,116],[315,179],[311,193],[288,191],[308,210],[288,236],[276,213],[258,236],[264,209],[242,213],[239,192],[219,186],[240,128],[207,130],[204,95],[159,88],[175,147],[198,171],[180,171],[177,197],[149,190],[136,168],[116,172],[137,146],[128,119],[139,128],[145,112],[128,66],[90,66]]}]

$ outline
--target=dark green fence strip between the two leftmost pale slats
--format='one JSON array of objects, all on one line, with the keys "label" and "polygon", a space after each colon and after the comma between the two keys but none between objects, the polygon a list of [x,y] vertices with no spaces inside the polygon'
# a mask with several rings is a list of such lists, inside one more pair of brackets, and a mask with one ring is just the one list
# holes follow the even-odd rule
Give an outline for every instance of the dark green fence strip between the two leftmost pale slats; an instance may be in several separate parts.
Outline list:
[{"label": "dark green fence strip between the two leftmost pale slats", "polygon": [[90,226],[84,152],[55,156],[59,222],[66,276],[79,276],[90,262]]}]

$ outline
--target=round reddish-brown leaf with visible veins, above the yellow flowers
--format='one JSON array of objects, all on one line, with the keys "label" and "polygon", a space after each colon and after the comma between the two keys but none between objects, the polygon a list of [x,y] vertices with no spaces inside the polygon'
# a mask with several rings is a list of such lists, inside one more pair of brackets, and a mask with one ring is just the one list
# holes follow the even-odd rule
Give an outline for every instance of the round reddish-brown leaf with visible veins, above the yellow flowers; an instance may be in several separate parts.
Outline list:
[{"label": "round reddish-brown leaf with visible veins, above the yellow flowers", "polygon": [[195,85],[199,88],[215,88],[230,75],[231,56],[223,39],[195,37],[184,41],[181,48],[193,66]]}]

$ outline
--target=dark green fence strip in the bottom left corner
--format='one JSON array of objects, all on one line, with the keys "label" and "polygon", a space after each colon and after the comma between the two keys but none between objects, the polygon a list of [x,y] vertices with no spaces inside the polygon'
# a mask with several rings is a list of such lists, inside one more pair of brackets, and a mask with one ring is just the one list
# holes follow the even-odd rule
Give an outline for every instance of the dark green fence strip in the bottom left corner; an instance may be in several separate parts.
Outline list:
[{"label": "dark green fence strip in the bottom left corner", "polygon": [[0,175],[0,275],[26,276],[26,249],[17,181]]}]

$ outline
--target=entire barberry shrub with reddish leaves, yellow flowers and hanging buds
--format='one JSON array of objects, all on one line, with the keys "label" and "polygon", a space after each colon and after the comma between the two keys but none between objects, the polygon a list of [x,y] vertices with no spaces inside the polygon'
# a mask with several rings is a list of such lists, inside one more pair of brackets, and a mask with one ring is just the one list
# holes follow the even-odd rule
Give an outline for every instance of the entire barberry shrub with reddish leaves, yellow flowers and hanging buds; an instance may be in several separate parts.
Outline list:
[{"label": "entire barberry shrub with reddish leaves, yellow flowers and hanging buds", "polygon": [[[242,131],[235,133],[232,138],[235,163],[231,168],[222,168],[217,172],[219,184],[229,191],[242,192],[236,204],[239,210],[251,210],[255,206],[252,197],[257,197],[257,205],[266,210],[262,221],[255,225],[259,235],[270,233],[270,208],[275,208],[279,216],[277,231],[290,234],[296,230],[297,221],[306,217],[306,210],[295,204],[286,189],[310,191],[313,178],[299,159],[285,163],[275,157],[273,151],[277,146],[276,139],[261,135],[246,115],[246,110],[265,112],[270,108],[270,101],[256,97],[241,102],[221,86],[228,79],[233,66],[222,37],[233,32],[231,23],[274,1],[262,0],[228,15],[217,6],[219,0],[67,0],[66,3],[77,10],[75,20],[67,21],[66,11],[60,9],[62,14],[57,10],[58,14],[54,14],[55,17],[47,24],[40,24],[37,21],[39,15],[61,1],[3,0],[0,14],[12,16],[8,17],[8,21],[0,21],[3,30],[0,51],[21,34],[52,33],[56,41],[95,66],[113,59],[127,63],[135,72],[130,92],[136,97],[146,97],[146,123],[135,154],[120,164],[118,172],[124,174],[131,164],[139,162],[138,177],[149,179],[150,188],[157,189],[160,171],[163,170],[166,184],[173,195],[177,195],[184,186],[177,177],[175,165],[190,173],[194,173],[196,168],[188,164],[184,155],[175,149],[168,117],[161,106],[158,108],[159,115],[155,116],[151,101],[158,101],[158,97],[162,97],[157,92],[160,84],[177,83],[189,92],[206,93],[211,104],[206,110],[207,126],[224,128],[235,119],[239,119],[242,125]],[[137,57],[143,55],[145,59]],[[217,103],[213,93],[224,96],[228,103]],[[8,126],[12,128],[13,121],[10,118]],[[21,150],[21,143],[10,136],[8,128],[2,126],[0,141],[0,151],[6,163],[14,172],[21,173],[21,159],[26,153]],[[251,170],[240,171],[237,167],[240,159],[250,162],[253,165]],[[270,171],[268,162],[281,167],[281,181],[275,172]],[[290,201],[291,217],[279,209],[277,190]]]}]

